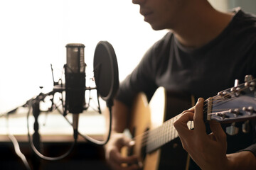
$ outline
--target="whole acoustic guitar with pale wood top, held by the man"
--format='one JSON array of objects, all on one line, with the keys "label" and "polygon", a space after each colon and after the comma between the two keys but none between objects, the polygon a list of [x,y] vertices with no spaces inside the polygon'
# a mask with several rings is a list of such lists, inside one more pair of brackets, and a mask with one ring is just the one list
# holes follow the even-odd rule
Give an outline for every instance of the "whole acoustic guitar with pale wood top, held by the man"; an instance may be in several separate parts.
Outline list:
[{"label": "whole acoustic guitar with pale wood top, held by the man", "polygon": [[[244,84],[208,98],[203,108],[205,122],[235,123],[256,118],[255,84],[256,79],[246,79]],[[145,94],[138,94],[129,120],[135,145],[129,151],[123,149],[122,154],[137,154],[144,170],[188,169],[190,157],[173,123],[194,104],[193,96],[175,94],[163,87],[156,90],[150,102]],[[188,128],[193,128],[193,122],[188,123]],[[230,133],[234,129],[230,128]]]}]

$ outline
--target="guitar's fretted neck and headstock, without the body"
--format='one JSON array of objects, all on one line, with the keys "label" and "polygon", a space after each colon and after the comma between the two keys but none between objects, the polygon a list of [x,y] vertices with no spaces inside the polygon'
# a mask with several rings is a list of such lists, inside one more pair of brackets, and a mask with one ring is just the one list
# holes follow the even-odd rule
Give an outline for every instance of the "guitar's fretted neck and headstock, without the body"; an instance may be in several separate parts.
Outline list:
[{"label": "guitar's fretted neck and headstock, without the body", "polygon": [[[210,120],[216,120],[219,123],[234,123],[255,119],[255,96],[256,79],[250,77],[247,77],[244,84],[220,91],[218,95],[206,99],[204,103],[203,117],[205,123]],[[174,122],[180,117],[181,114],[176,115],[158,128],[148,130],[139,136],[142,137],[142,146],[146,147],[146,153],[153,152],[178,137]],[[193,128],[193,121],[188,122],[188,128]]]}]

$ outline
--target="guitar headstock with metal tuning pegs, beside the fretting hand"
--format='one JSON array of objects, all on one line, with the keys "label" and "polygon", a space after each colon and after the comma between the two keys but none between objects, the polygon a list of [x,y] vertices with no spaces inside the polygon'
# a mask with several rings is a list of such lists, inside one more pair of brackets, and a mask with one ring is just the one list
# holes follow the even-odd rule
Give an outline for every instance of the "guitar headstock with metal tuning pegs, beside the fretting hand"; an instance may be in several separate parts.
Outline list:
[{"label": "guitar headstock with metal tuning pegs, beside the fretting hand", "polygon": [[244,84],[220,91],[205,101],[206,120],[233,123],[256,118],[256,79],[245,77]]}]

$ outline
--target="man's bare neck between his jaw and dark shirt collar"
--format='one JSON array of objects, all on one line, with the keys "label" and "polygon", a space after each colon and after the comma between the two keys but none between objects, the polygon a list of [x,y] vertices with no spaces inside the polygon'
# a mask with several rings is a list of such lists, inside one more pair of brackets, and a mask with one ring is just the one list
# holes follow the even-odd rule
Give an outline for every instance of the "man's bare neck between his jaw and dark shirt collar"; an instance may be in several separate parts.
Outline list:
[{"label": "man's bare neck between his jaw and dark shirt collar", "polygon": [[228,26],[233,13],[223,13],[214,8],[191,13],[173,29],[177,40],[186,47],[198,48],[215,39]]}]

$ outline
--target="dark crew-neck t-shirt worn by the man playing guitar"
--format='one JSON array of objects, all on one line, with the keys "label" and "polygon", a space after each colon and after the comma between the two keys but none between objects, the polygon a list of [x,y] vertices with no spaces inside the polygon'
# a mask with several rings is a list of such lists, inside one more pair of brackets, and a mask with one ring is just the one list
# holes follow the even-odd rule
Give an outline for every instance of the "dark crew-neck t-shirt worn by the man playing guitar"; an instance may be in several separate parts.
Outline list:
[{"label": "dark crew-neck t-shirt worn by the man playing guitar", "polygon": [[[235,79],[243,83],[247,74],[256,77],[256,17],[239,10],[217,38],[198,49],[183,47],[173,33],[167,33],[120,84],[116,98],[131,106],[139,92],[150,99],[163,86],[168,91],[183,91],[206,99],[234,86]],[[241,137],[228,136],[228,153],[252,145],[255,133],[247,138],[242,135],[245,142],[230,144],[236,139]],[[250,151],[256,156],[255,148],[252,146]]]}]

